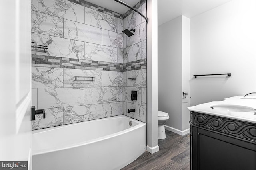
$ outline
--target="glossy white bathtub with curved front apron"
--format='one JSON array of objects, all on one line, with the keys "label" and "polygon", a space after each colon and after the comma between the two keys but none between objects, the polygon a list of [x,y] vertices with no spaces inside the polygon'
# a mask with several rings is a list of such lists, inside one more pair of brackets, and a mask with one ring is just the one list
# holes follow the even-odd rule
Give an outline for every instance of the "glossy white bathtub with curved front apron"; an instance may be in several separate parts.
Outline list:
[{"label": "glossy white bathtub with curved front apron", "polygon": [[145,150],[146,123],[120,115],[33,131],[32,168],[119,170]]}]

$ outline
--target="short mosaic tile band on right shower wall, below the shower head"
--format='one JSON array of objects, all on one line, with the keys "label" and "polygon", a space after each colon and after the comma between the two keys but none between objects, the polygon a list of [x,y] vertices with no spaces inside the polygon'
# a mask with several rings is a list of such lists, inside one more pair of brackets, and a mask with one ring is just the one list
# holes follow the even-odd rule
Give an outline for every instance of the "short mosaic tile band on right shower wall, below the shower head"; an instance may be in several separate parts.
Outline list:
[{"label": "short mosaic tile band on right shower wall, below the shower head", "polygon": [[147,59],[140,59],[123,64],[123,71],[140,70],[147,68]]}]

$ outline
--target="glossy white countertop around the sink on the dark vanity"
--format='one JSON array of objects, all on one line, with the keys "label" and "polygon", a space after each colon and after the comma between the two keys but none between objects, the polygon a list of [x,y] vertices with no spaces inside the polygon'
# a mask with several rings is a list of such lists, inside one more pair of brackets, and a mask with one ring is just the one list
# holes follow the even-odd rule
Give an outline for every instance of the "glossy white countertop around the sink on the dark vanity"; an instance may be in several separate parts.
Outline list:
[{"label": "glossy white countertop around the sink on the dark vanity", "polygon": [[205,113],[208,115],[216,115],[220,117],[227,117],[231,119],[237,119],[247,122],[256,123],[256,115],[255,111],[248,112],[233,112],[233,111],[220,111],[217,109],[212,109],[212,106],[215,105],[239,105],[246,106],[252,109],[256,109],[256,96],[234,96],[230,98],[226,98],[223,101],[213,101],[209,103],[199,104],[196,106],[188,107],[188,110],[195,111],[198,113]]}]

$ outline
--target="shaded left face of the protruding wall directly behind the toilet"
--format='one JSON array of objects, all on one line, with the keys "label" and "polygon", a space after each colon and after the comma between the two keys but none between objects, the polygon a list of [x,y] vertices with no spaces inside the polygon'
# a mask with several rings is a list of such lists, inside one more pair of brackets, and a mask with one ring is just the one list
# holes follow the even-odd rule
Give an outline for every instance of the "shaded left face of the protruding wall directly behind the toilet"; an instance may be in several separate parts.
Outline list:
[{"label": "shaded left face of the protruding wall directly behind the toilet", "polygon": [[158,110],[182,130],[182,16],[158,26]]}]

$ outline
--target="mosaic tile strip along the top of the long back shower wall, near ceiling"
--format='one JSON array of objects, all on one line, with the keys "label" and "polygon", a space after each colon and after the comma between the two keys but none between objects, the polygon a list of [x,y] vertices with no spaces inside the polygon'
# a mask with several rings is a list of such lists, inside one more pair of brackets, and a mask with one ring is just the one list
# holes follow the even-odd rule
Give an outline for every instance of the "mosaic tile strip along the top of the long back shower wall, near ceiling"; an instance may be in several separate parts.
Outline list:
[{"label": "mosaic tile strip along the top of the long back shower wall, near ceiling", "polygon": [[112,11],[112,10],[103,8],[103,7],[101,7],[101,6],[97,6],[97,5],[95,5],[95,4],[92,4],[92,3],[90,3],[90,2],[87,2],[87,1],[85,1],[85,0],[68,0],[68,1],[74,2],[74,3],[76,3],[76,4],[80,4],[80,5],[85,6],[85,7],[87,7],[87,8],[91,8],[91,9],[97,10],[97,11],[99,11],[99,12],[103,12],[103,13],[105,13],[105,14],[109,14],[109,15],[114,16],[114,17],[116,17],[116,18],[123,19],[122,14],[119,14],[119,13],[114,12],[114,11]]}]

